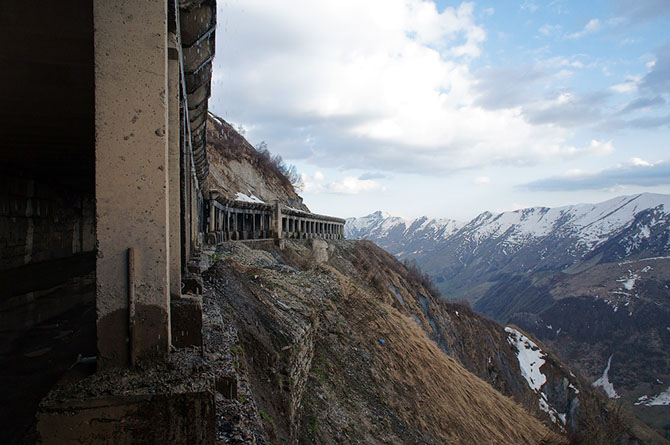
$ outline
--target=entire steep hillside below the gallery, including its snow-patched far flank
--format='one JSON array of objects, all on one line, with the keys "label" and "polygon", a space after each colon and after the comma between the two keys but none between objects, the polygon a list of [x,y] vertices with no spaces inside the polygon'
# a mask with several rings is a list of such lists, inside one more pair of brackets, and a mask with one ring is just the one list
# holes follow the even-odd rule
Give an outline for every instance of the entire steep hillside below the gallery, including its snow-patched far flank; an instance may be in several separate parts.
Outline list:
[{"label": "entire steep hillside below the gallery, including its snow-patched far flank", "polygon": [[438,301],[372,243],[227,243],[216,259],[206,284],[239,333],[269,442],[560,440],[540,421],[599,443],[646,434],[540,343]]}]

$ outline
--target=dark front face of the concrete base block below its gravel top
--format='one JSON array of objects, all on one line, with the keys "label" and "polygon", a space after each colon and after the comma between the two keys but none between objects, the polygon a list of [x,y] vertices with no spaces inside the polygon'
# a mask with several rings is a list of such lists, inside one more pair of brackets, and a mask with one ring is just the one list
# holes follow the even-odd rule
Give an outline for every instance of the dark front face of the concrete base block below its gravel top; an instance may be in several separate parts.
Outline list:
[{"label": "dark front face of the concrete base block below its gravel top", "polygon": [[43,444],[207,444],[216,438],[214,394],[106,396],[54,402],[38,414]]}]

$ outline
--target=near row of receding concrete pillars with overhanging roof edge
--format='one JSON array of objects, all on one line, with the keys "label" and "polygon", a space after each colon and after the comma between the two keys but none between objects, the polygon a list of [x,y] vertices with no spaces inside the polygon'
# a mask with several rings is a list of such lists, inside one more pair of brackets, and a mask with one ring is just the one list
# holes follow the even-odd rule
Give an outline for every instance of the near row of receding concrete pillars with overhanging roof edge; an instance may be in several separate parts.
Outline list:
[{"label": "near row of receding concrete pillars with overhanging roof edge", "polygon": [[222,230],[215,209],[206,224],[202,193],[216,5],[94,0],[93,23],[104,369],[167,354],[181,275],[203,235]]}]

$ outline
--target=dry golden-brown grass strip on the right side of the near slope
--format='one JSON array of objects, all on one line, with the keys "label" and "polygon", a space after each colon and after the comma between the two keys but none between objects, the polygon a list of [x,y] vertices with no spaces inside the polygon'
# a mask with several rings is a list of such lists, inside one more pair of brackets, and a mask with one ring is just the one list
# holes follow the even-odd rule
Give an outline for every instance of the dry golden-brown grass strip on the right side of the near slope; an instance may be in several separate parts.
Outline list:
[{"label": "dry golden-brown grass strip on the right side of the near slope", "polygon": [[[409,317],[341,276],[341,307],[355,334],[375,345],[371,365],[384,400],[444,443],[563,443],[512,400],[442,352]],[[384,339],[385,344],[379,343]]]}]

